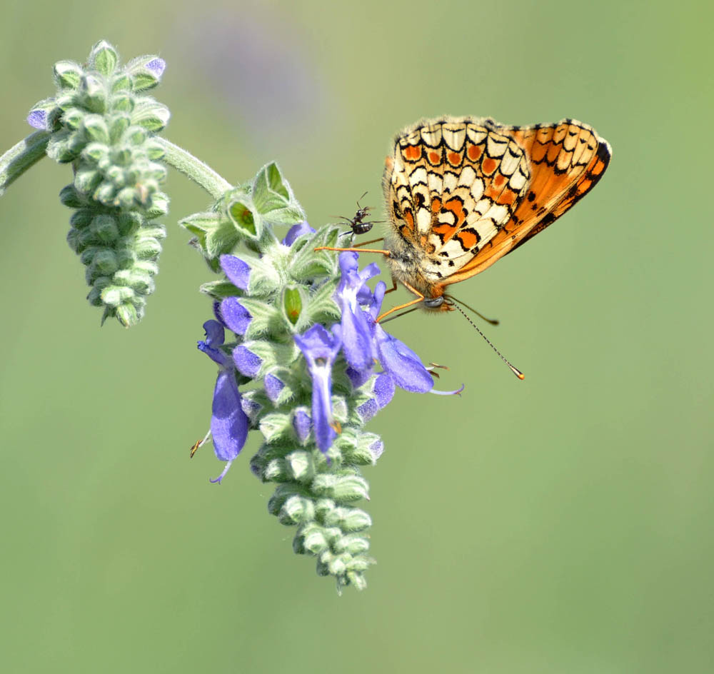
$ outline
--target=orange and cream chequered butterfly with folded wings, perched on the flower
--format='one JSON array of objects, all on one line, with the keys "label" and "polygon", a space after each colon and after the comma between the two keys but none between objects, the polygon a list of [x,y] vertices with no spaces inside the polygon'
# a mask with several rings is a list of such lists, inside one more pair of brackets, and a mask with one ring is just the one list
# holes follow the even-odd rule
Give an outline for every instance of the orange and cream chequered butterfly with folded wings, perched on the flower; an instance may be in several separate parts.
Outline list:
[{"label": "orange and cream chequered butterfly with folded wings, perched on the flower", "polygon": [[588,125],[505,126],[490,118],[423,120],[396,136],[383,188],[393,276],[439,301],[585,195],[610,161]]}]

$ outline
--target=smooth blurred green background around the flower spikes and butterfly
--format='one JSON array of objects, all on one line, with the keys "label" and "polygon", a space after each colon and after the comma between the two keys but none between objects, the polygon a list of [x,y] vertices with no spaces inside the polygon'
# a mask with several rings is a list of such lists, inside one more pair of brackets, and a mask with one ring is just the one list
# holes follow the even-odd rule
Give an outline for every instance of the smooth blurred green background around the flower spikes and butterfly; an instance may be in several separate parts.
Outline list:
[{"label": "smooth blurred green background around the flower spikes and butterfly", "polygon": [[[371,422],[378,565],[340,598],[248,471],[223,486],[196,351],[209,274],[171,173],[146,319],[99,328],[41,162],[0,200],[0,669],[4,672],[671,673],[714,670],[710,255],[712,5],[691,0],[3,4],[0,147],[51,65],[114,42],[168,62],[166,136],[230,181],[277,159],[313,225],[381,211],[393,134],[421,116],[573,116],[603,181],[456,288],[391,323],[442,388]],[[702,126],[704,124],[704,126]],[[406,294],[404,295],[406,296]]]}]

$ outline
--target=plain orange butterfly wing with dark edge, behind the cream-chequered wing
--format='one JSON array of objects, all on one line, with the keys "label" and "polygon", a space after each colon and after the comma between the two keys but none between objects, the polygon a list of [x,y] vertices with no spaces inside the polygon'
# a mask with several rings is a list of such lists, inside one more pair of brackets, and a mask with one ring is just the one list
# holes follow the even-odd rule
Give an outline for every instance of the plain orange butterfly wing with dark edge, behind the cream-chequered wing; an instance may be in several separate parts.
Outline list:
[{"label": "plain orange butterfly wing with dark edge, behind the cream-chequered wing", "polygon": [[528,192],[506,226],[458,272],[444,278],[443,286],[480,273],[543,231],[598,183],[612,156],[608,141],[573,119],[535,126],[501,126],[487,119],[484,126],[511,136],[526,153]]}]

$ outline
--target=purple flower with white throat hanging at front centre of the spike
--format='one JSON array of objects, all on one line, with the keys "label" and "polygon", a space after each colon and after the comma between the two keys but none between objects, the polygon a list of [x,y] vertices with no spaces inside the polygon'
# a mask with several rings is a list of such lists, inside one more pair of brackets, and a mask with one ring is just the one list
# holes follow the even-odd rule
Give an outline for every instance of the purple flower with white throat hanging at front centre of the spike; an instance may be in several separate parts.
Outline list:
[{"label": "purple flower with white throat hanging at front centre of the spike", "polygon": [[342,346],[339,326],[332,334],[321,325],[312,326],[302,336],[293,336],[305,356],[312,378],[312,422],[315,440],[320,451],[326,453],[335,439],[332,416],[332,365]]}]

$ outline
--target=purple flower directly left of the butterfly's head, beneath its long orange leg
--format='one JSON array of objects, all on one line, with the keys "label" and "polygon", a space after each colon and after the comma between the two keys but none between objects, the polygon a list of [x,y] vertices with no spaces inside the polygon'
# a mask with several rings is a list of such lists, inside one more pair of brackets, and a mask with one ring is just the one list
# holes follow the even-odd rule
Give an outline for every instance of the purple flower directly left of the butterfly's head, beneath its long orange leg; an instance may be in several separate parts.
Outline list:
[{"label": "purple flower directly left of the butterfly's head, beneath its long orange leg", "polygon": [[377,276],[379,267],[376,263],[368,264],[362,271],[357,268],[358,254],[340,253],[342,278],[335,297],[342,308],[342,341],[347,362],[357,371],[370,367],[374,359],[372,331],[368,323],[368,314],[361,304],[368,303],[372,293],[366,281]]}]

